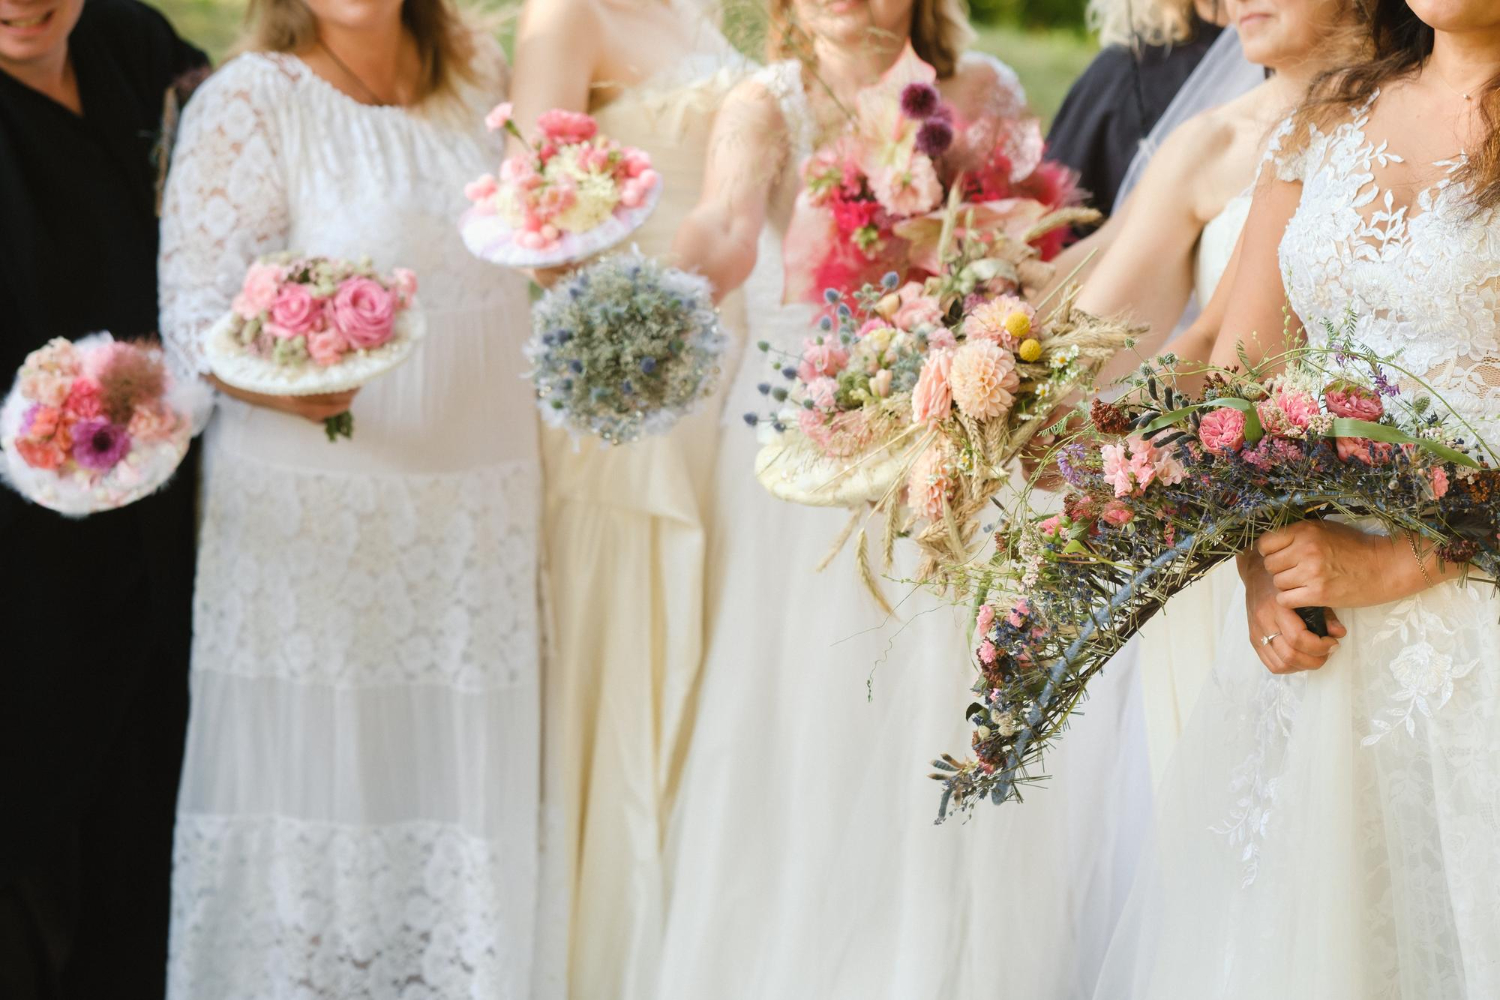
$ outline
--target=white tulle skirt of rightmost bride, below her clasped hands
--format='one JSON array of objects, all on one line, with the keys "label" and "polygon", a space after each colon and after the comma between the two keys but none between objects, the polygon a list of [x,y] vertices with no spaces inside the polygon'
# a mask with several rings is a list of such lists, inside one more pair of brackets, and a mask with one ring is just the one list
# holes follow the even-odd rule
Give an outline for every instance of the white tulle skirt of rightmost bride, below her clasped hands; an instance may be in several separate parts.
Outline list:
[{"label": "white tulle skirt of rightmost bride, below her clasped hands", "polygon": [[1095,997],[1500,996],[1500,601],[1340,610],[1275,676],[1232,600]]}]

